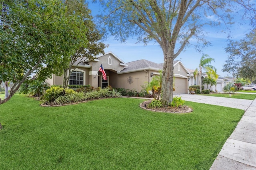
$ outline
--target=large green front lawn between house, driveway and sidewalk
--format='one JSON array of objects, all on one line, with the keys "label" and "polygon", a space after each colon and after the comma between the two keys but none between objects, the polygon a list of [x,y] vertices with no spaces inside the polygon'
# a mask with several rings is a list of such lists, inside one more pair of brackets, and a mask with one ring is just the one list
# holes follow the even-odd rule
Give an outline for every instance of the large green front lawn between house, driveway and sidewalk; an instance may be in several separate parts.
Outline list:
[{"label": "large green front lawn between house, driveway and sidewalk", "polygon": [[14,95],[0,105],[1,169],[208,170],[244,113],[193,102],[192,113],[158,113],[142,101],[40,107]]}]

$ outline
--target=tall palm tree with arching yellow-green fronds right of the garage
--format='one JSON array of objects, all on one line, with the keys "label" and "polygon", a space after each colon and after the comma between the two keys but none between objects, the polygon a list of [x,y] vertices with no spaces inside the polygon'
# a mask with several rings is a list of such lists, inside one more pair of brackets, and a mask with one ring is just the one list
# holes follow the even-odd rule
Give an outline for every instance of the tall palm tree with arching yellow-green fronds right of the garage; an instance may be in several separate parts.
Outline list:
[{"label": "tall palm tree with arching yellow-green fronds right of the garage", "polygon": [[214,76],[215,79],[218,78],[218,75],[216,73],[217,69],[214,66],[210,65],[210,63],[212,61],[215,62],[215,59],[209,57],[209,55],[207,55],[207,54],[203,54],[201,59],[200,59],[200,63],[199,63],[198,68],[196,68],[196,70],[194,71],[195,79],[196,79],[196,75],[199,74],[199,88],[200,88],[200,92],[202,92],[202,70],[203,69],[207,72],[209,77],[210,77],[210,75],[212,75],[212,76]]}]

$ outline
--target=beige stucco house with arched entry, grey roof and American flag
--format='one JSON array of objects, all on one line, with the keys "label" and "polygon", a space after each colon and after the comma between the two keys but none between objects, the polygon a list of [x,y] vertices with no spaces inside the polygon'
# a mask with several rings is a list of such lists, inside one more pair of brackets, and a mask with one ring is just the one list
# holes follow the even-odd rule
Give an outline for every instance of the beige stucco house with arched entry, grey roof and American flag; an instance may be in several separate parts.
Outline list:
[{"label": "beige stucco house with arched entry, grey roof and American flag", "polygon": [[[140,92],[142,85],[152,81],[152,76],[159,75],[163,63],[158,64],[145,59],[125,63],[111,51],[96,56],[94,61],[84,61],[70,75],[68,85],[91,85],[93,87],[135,89]],[[107,80],[99,72],[102,64]],[[180,60],[174,61],[174,94],[188,93],[188,76],[190,73]],[[50,85],[62,85],[62,76],[52,75],[46,80]]]}]

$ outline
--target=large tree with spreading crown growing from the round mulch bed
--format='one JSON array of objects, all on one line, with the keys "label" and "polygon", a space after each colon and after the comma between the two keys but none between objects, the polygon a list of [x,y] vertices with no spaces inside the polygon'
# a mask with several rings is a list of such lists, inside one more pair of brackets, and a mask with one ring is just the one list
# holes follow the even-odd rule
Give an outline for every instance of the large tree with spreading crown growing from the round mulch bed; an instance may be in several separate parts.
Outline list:
[{"label": "large tree with spreading crown growing from the round mulch bed", "polygon": [[[206,28],[232,23],[232,14],[238,6],[249,12],[255,22],[255,4],[249,1],[218,0],[111,0],[102,1],[108,15],[102,16],[108,31],[121,42],[129,36],[137,36],[145,44],[151,40],[162,48],[162,101],[172,101],[173,61],[196,38],[200,45]],[[244,13],[244,14],[246,14]],[[216,16],[217,20],[210,20]],[[246,16],[246,15],[245,15]],[[236,17],[237,19],[237,17]]]}]

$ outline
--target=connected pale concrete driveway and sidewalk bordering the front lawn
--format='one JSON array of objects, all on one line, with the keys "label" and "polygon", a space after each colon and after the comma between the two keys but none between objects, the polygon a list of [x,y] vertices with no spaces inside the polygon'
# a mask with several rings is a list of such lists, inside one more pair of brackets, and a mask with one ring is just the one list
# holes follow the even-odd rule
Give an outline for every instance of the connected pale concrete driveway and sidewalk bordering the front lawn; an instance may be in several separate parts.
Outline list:
[{"label": "connected pale concrete driveway and sidewalk bordering the front lawn", "polygon": [[245,111],[226,140],[210,170],[256,170],[256,99],[244,100],[204,95],[176,95],[185,101],[242,109]]}]

